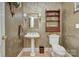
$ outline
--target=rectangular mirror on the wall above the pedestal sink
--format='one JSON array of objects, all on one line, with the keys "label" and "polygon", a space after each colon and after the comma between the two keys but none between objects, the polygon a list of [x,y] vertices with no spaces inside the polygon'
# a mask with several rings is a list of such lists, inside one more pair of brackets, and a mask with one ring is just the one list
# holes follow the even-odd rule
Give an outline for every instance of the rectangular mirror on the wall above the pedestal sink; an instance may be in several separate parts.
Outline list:
[{"label": "rectangular mirror on the wall above the pedestal sink", "polygon": [[40,16],[38,13],[28,13],[29,28],[38,29]]}]

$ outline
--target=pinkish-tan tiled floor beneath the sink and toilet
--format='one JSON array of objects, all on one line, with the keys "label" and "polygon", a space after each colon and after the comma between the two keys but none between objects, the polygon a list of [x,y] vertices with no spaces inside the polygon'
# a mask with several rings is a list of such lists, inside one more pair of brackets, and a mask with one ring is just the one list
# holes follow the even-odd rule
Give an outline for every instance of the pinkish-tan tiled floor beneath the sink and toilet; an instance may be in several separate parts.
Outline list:
[{"label": "pinkish-tan tiled floor beneath the sink and toilet", "polygon": [[[31,54],[30,51],[22,51],[19,57],[31,57],[30,54]],[[55,57],[55,56],[51,56],[49,51],[44,51],[44,53],[39,53],[39,51],[35,51],[34,57]],[[63,57],[73,57],[73,56],[70,55],[68,52],[66,52],[66,54]]]}]

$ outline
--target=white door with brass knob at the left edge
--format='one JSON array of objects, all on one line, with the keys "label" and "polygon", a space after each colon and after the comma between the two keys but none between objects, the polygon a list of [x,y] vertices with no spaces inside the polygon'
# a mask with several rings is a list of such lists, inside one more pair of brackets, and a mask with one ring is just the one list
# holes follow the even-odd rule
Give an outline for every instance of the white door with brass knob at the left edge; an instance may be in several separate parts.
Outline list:
[{"label": "white door with brass knob at the left edge", "polygon": [[5,3],[0,2],[0,57],[5,56]]}]

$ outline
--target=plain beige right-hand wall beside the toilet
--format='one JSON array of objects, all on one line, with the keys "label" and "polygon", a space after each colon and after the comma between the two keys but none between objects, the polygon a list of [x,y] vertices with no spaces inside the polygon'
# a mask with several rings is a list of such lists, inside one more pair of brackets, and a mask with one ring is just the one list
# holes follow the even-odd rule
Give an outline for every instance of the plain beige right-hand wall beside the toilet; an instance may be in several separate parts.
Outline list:
[{"label": "plain beige right-hand wall beside the toilet", "polygon": [[64,47],[75,49],[79,56],[79,29],[75,24],[79,23],[79,12],[74,13],[74,3],[63,3],[63,40]]}]

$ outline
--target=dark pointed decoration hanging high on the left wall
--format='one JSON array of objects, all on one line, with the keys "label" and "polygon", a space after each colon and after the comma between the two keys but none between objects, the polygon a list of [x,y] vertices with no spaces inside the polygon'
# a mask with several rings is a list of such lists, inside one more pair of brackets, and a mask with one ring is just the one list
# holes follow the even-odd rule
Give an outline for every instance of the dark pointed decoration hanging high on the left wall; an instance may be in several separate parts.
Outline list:
[{"label": "dark pointed decoration hanging high on the left wall", "polygon": [[10,6],[10,12],[11,12],[11,15],[13,17],[13,15],[15,14],[16,12],[16,9],[18,7],[21,7],[21,2],[8,2],[9,3],[9,6]]}]

